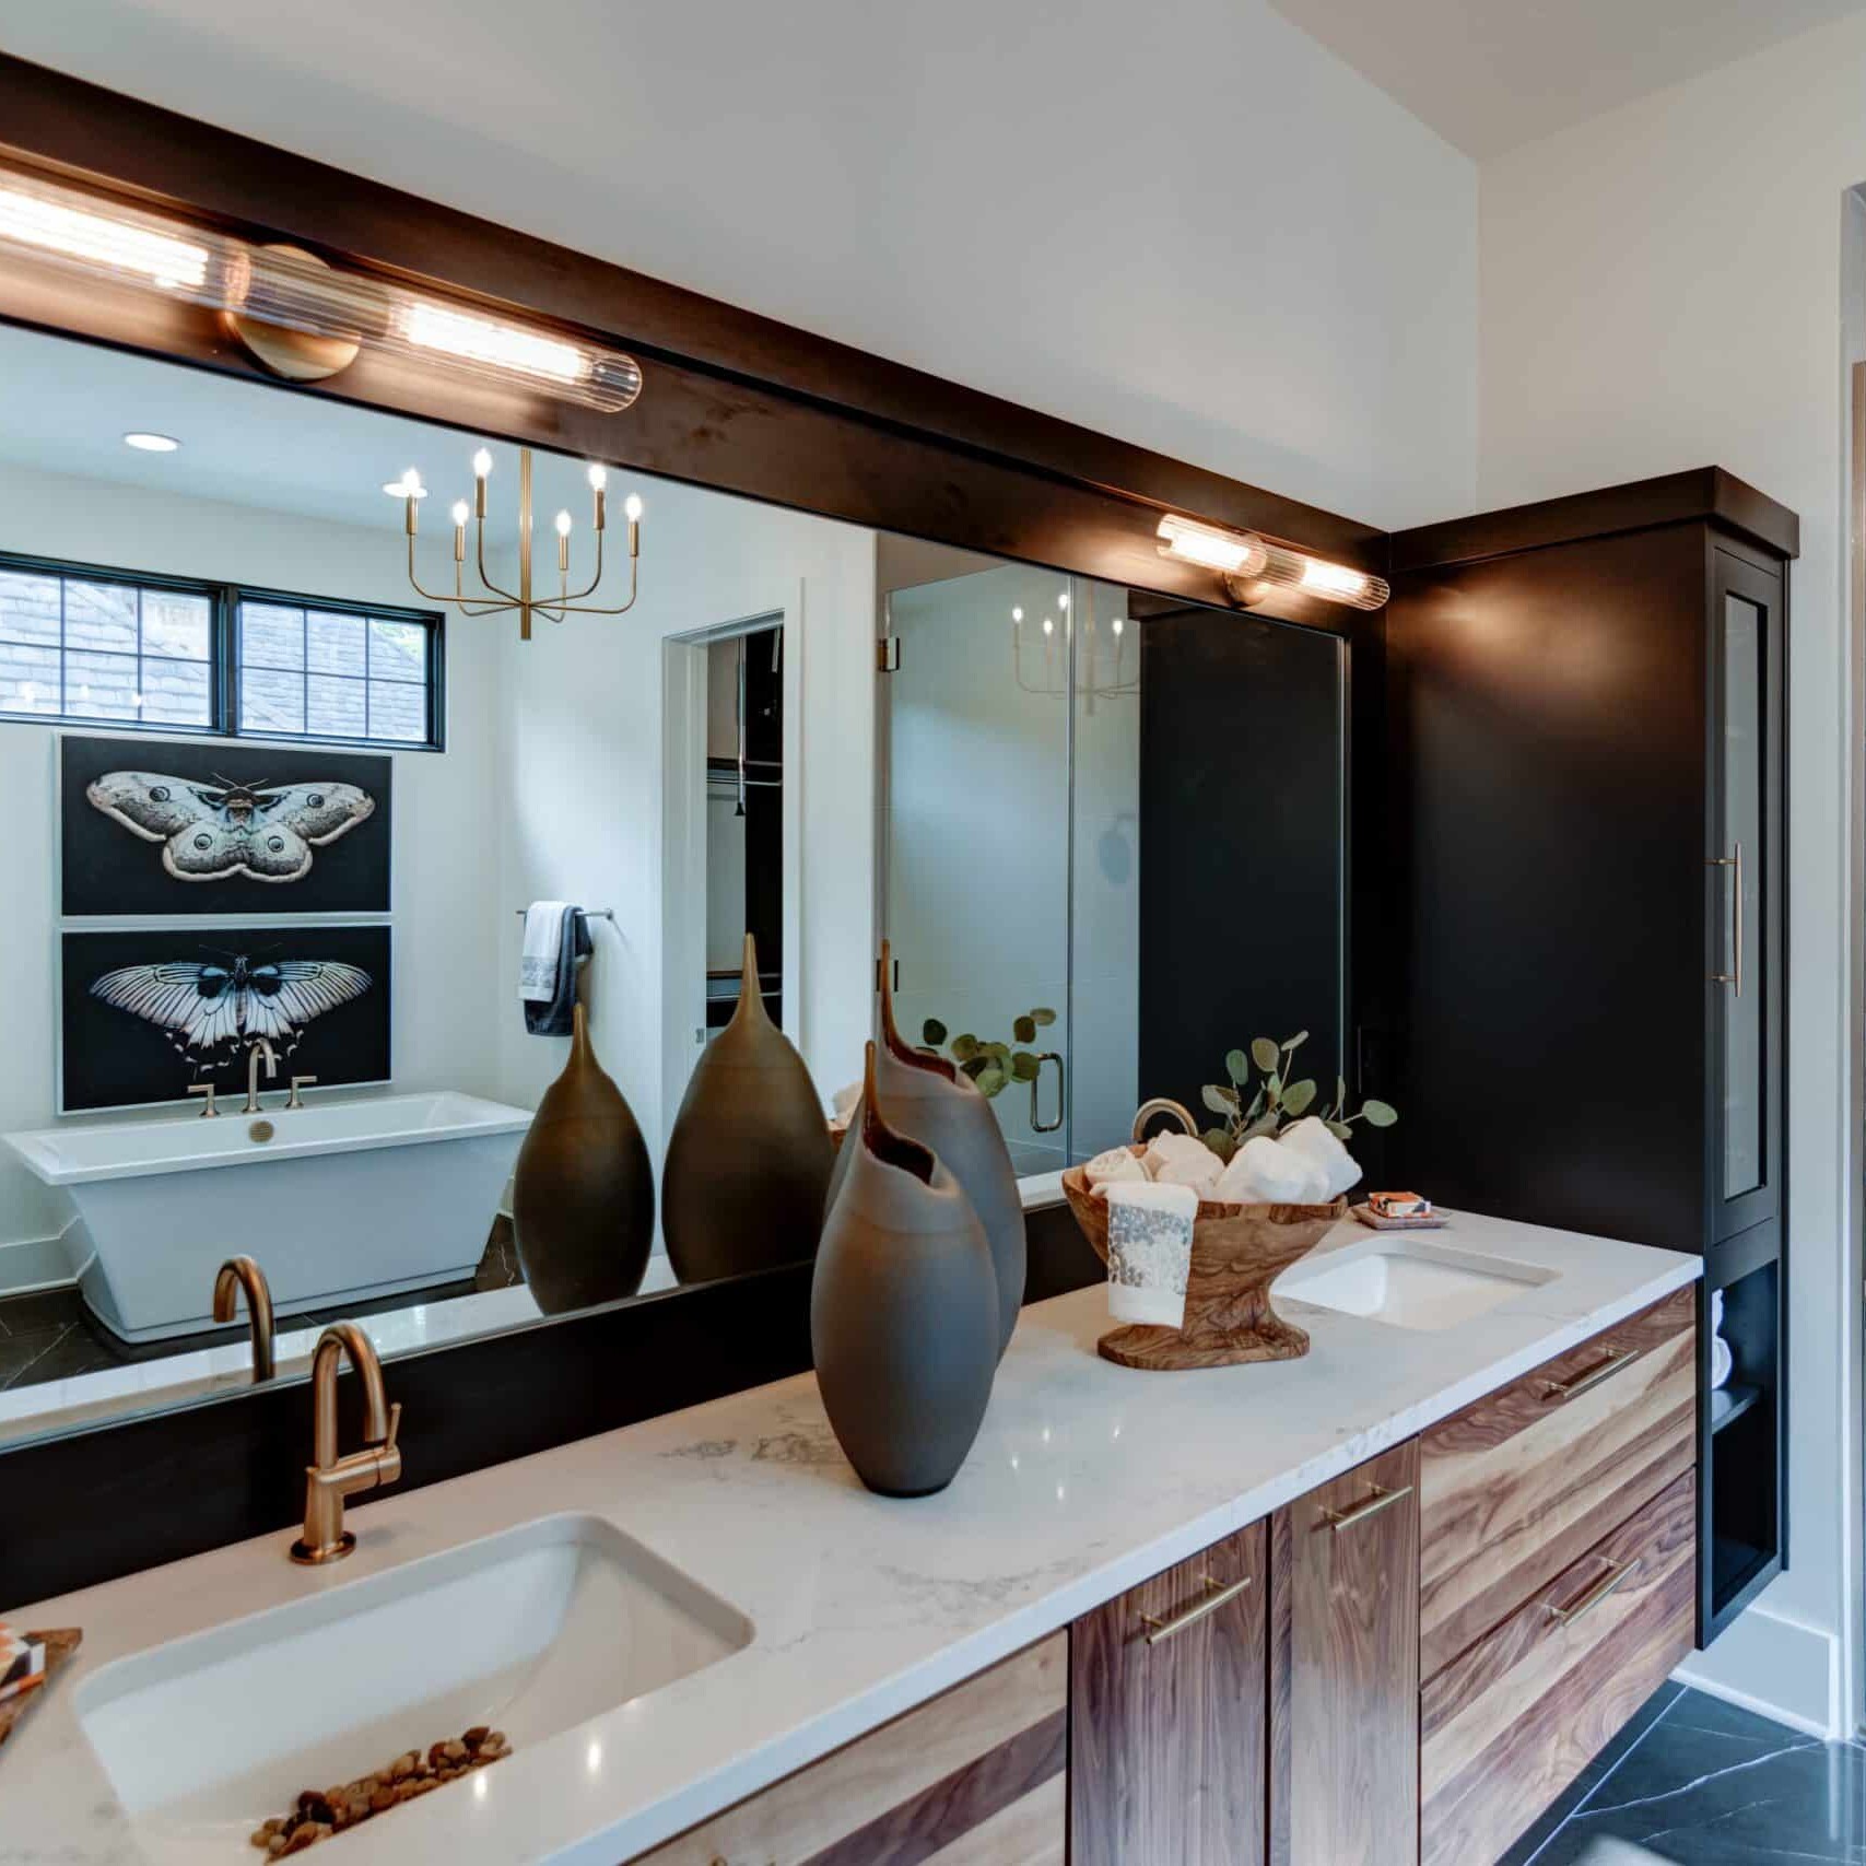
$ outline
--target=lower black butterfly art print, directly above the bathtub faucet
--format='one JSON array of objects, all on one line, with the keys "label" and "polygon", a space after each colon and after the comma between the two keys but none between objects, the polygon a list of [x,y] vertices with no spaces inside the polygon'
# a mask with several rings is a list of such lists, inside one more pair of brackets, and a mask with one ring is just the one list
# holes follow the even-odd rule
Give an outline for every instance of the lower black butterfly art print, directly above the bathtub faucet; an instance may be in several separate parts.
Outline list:
[{"label": "lower black butterfly art print, directly above the bathtub faucet", "polygon": [[246,1086],[261,1039],[334,1088],[390,1079],[386,926],[67,931],[60,1110],[181,1101]]}]

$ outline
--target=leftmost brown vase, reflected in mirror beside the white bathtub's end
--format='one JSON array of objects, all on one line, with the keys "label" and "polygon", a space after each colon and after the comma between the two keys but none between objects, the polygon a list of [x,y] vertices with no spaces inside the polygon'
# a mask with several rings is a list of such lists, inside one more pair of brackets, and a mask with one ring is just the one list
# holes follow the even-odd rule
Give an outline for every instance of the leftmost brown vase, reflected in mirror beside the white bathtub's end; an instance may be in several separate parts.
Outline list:
[{"label": "leftmost brown vase, reflected in mirror beside the white bathtub's end", "polygon": [[519,1148],[511,1230],[524,1282],[547,1316],[642,1288],[655,1243],[655,1168],[629,1103],[595,1060],[580,1004],[569,1062]]}]

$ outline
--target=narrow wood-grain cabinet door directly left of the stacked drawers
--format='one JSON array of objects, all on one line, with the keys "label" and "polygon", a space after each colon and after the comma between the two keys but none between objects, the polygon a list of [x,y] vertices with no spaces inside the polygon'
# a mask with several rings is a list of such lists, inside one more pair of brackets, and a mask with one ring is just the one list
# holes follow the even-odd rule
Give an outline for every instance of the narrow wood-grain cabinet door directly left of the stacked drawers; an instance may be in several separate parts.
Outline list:
[{"label": "narrow wood-grain cabinet door directly left of the stacked drawers", "polygon": [[1271,1519],[1271,1862],[1418,1859],[1418,1441]]}]

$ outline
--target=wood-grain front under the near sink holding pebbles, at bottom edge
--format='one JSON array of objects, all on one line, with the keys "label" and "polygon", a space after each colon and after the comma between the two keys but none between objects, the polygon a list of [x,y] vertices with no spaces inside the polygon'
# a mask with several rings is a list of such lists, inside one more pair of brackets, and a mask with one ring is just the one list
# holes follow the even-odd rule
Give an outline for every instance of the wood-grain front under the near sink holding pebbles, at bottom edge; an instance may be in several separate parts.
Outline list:
[{"label": "wood-grain front under the near sink holding pebbles, at bottom edge", "polygon": [[1052,1633],[636,1866],[1064,1866],[1067,1694]]}]

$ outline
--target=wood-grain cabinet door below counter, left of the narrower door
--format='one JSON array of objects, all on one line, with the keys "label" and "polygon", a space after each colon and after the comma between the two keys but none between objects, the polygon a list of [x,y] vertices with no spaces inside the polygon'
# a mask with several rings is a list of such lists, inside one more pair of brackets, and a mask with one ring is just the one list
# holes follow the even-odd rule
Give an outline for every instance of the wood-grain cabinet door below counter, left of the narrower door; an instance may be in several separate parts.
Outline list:
[{"label": "wood-grain cabinet door below counter, left of the narrower door", "polygon": [[1265,1528],[1069,1631],[1071,1866],[1263,1866]]}]

